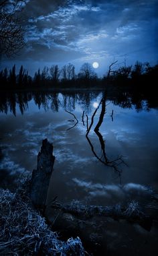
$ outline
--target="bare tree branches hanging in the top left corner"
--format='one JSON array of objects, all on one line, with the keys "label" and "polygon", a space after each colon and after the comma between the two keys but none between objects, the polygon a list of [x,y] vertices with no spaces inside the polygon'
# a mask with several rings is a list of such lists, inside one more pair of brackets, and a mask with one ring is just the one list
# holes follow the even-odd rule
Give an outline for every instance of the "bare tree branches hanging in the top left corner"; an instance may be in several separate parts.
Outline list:
[{"label": "bare tree branches hanging in the top left corner", "polygon": [[2,0],[0,2],[0,54],[10,57],[25,45],[24,28],[19,11],[25,5],[24,0]]}]

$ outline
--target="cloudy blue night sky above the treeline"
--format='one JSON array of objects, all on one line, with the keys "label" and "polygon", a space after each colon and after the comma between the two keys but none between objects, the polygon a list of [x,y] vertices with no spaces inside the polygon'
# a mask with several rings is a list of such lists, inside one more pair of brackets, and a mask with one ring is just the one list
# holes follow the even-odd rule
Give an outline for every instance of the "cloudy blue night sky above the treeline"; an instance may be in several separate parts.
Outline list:
[{"label": "cloudy blue night sky above the treeline", "polygon": [[27,44],[2,67],[23,65],[33,75],[45,65],[97,61],[98,75],[118,60],[123,65],[158,60],[157,0],[27,0],[21,11]]}]

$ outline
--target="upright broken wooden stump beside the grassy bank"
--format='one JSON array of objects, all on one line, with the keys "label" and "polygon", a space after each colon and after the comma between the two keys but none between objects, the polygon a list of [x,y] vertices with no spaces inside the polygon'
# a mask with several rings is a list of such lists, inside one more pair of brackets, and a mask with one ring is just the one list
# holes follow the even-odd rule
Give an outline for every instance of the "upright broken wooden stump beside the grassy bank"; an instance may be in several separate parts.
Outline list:
[{"label": "upright broken wooden stump beside the grassy bank", "polygon": [[55,157],[53,146],[48,139],[42,141],[41,151],[37,156],[37,169],[33,170],[30,183],[30,198],[36,207],[46,206],[46,199],[50,177],[52,174]]}]

